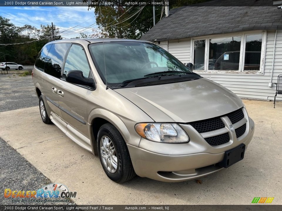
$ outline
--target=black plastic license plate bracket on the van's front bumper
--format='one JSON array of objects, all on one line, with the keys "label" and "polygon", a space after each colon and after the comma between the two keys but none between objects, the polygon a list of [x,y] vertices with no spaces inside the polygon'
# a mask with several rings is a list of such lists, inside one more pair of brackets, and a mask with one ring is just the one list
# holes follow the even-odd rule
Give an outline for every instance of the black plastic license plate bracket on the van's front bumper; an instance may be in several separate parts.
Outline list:
[{"label": "black plastic license plate bracket on the van's front bumper", "polygon": [[219,166],[228,168],[240,160],[243,160],[245,154],[245,144],[240,144],[239,146],[230,149],[224,153],[224,158],[219,162]]}]

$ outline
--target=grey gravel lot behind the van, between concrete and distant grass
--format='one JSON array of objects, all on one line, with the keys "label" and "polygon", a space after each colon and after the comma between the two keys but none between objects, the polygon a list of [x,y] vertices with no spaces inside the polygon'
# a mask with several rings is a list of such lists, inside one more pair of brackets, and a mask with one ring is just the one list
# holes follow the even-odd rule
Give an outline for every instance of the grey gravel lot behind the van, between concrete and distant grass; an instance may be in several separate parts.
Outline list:
[{"label": "grey gravel lot behind the van, between concrete and distant grass", "polygon": [[0,75],[0,112],[37,105],[31,76]]}]

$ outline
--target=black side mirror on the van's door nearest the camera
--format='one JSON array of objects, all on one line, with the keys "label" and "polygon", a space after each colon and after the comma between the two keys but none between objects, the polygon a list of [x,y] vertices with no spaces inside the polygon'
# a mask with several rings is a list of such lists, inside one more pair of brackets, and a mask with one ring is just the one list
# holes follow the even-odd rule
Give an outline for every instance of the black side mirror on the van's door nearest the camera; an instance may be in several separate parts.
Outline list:
[{"label": "black side mirror on the van's door nearest the camera", "polygon": [[95,88],[95,83],[93,78],[85,78],[82,71],[80,70],[70,70],[66,74],[66,81],[73,84],[80,84],[85,86],[90,86]]}]

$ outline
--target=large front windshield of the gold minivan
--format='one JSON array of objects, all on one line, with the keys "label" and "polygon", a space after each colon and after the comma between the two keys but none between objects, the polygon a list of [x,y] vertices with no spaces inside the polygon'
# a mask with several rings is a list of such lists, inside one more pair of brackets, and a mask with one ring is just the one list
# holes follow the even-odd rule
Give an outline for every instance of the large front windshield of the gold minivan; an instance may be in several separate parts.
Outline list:
[{"label": "large front windshield of the gold minivan", "polygon": [[158,75],[194,74],[167,51],[152,43],[104,42],[104,46],[103,43],[94,43],[89,50],[100,76],[104,82],[107,78],[108,84]]}]

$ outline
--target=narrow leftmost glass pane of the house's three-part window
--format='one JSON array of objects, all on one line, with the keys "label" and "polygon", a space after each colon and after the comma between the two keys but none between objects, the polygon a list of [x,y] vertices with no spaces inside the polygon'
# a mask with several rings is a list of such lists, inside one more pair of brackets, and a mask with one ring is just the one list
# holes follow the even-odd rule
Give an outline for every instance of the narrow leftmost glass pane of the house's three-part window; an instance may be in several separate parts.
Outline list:
[{"label": "narrow leftmost glass pane of the house's three-part window", "polygon": [[204,70],[206,40],[194,41],[194,70]]}]

